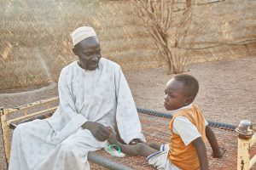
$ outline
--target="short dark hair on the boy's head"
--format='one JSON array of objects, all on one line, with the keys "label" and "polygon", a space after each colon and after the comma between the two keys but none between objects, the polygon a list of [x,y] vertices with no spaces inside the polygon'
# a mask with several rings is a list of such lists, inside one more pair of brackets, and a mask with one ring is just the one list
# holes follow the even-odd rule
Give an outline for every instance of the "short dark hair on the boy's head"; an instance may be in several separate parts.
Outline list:
[{"label": "short dark hair on the boy's head", "polygon": [[184,94],[188,97],[193,97],[195,99],[196,94],[198,93],[199,83],[188,74],[179,74],[174,77],[175,80],[183,82],[184,85]]}]

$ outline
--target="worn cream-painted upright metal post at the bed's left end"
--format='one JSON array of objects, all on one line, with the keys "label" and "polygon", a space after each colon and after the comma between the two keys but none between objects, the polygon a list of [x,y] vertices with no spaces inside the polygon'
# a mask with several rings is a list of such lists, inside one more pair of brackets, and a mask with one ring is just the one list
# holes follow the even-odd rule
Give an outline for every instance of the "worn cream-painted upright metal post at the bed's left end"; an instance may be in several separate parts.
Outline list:
[{"label": "worn cream-painted upright metal post at the bed's left end", "polygon": [[6,111],[5,109],[1,109],[1,130],[3,133],[3,145],[5,152],[5,161],[6,164],[9,164],[9,156],[10,156],[10,140],[9,140],[9,126],[6,121]]}]

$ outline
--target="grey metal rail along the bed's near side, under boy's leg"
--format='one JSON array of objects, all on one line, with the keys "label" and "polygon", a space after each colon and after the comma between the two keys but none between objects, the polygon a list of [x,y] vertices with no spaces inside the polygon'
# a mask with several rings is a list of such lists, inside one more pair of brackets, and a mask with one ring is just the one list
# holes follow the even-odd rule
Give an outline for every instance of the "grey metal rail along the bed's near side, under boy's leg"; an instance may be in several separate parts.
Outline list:
[{"label": "grey metal rail along the bed's near side, under boy's leg", "polygon": [[131,167],[126,167],[125,165],[108,160],[107,158],[99,156],[94,152],[90,152],[88,154],[88,161],[113,170],[132,170]]}]

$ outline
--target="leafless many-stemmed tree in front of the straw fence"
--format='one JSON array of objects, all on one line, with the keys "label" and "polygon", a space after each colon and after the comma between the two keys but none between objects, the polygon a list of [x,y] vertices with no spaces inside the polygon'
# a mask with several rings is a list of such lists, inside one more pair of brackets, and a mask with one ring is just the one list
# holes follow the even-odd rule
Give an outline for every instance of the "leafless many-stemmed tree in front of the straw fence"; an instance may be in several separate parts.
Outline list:
[{"label": "leafless many-stemmed tree in front of the straw fence", "polygon": [[[187,60],[183,54],[183,48],[178,48],[179,43],[188,35],[186,25],[191,20],[191,0],[186,0],[184,8],[177,8],[174,0],[134,0],[139,9],[140,17],[143,18],[144,25],[150,36],[153,38],[155,46],[160,54],[164,56],[167,64],[167,74],[179,73],[183,71]],[[172,15],[176,12],[180,20],[175,26],[176,34],[172,38],[174,48],[169,43],[168,30],[173,25]],[[177,20],[177,19],[176,19]]]}]

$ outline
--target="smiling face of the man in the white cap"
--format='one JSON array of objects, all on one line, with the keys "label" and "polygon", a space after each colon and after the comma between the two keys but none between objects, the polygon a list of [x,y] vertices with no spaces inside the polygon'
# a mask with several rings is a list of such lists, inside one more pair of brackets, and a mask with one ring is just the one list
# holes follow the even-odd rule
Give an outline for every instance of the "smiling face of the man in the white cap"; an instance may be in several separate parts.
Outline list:
[{"label": "smiling face of the man in the white cap", "polygon": [[98,67],[102,58],[101,47],[96,37],[87,37],[79,42],[73,53],[79,57],[79,65],[89,71],[94,71]]}]

